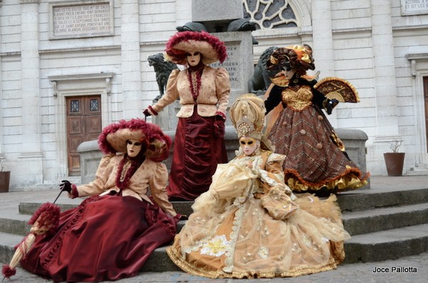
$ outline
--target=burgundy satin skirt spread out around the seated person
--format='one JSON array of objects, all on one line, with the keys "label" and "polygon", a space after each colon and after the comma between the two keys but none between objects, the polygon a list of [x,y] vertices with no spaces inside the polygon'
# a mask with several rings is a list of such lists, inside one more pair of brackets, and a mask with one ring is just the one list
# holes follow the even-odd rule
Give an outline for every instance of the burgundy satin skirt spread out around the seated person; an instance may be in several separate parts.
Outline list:
[{"label": "burgundy satin skirt spread out around the seated person", "polygon": [[132,196],[93,196],[61,213],[55,235],[38,235],[21,267],[54,282],[114,281],[135,276],[176,223],[157,205]]}]

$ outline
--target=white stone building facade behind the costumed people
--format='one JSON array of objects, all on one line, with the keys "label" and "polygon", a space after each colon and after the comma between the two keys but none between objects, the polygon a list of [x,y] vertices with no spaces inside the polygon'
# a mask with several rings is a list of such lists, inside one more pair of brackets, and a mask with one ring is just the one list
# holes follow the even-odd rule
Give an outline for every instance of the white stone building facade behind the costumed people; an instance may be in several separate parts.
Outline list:
[{"label": "white stone building facade behind the costumed people", "polygon": [[[307,43],[320,78],[355,85],[361,102],[342,103],[329,118],[337,128],[367,133],[368,171],[386,175],[383,153],[398,140],[404,173],[428,173],[428,1],[231,1],[258,23],[254,63],[270,46]],[[147,58],[193,20],[197,3],[0,1],[0,158],[11,171],[11,191],[72,175],[68,148],[82,142],[73,130],[88,119],[73,116],[76,101],[89,97],[89,112],[98,115],[85,139],[93,139],[91,127],[143,117],[158,95]]]}]

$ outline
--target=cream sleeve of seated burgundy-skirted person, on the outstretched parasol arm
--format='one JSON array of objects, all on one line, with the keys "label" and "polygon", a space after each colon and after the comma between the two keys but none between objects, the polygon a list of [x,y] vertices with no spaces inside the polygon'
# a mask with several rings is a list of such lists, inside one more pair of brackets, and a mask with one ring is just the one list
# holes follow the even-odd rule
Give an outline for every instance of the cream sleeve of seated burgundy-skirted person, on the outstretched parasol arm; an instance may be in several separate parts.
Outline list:
[{"label": "cream sleeve of seated burgundy-skirted person, on the outstretched parasol arm", "polygon": [[113,166],[110,166],[110,161],[113,156],[113,154],[103,156],[98,165],[94,181],[86,185],[77,186],[79,197],[96,196],[106,189],[105,185],[108,181],[108,176],[110,176],[111,170],[113,170]]}]

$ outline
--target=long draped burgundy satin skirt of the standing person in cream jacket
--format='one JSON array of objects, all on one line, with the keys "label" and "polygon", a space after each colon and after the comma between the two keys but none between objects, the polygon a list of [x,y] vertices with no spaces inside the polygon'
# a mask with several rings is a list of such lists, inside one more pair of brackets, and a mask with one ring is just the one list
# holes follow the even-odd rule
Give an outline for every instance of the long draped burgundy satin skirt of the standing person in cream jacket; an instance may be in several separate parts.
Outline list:
[{"label": "long draped burgundy satin skirt of the standing person in cream jacket", "polygon": [[215,127],[214,117],[179,118],[175,132],[173,162],[166,188],[171,201],[194,201],[208,191],[217,164],[228,163],[225,124]]}]

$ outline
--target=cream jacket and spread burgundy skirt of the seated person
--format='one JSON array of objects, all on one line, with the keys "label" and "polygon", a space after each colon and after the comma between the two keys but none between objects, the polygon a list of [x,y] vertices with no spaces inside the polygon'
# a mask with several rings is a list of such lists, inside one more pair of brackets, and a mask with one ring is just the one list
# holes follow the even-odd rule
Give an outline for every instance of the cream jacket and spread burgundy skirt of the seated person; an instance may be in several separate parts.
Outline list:
[{"label": "cream jacket and spread burgundy skirt of the seated person", "polygon": [[[135,276],[153,250],[173,240],[176,220],[165,192],[165,165],[146,159],[120,190],[112,185],[120,159],[105,156],[96,181],[78,186],[79,196],[105,190],[61,213],[54,235],[38,235],[20,262],[24,269],[54,282],[113,281]],[[140,194],[148,185],[150,198]]]}]

